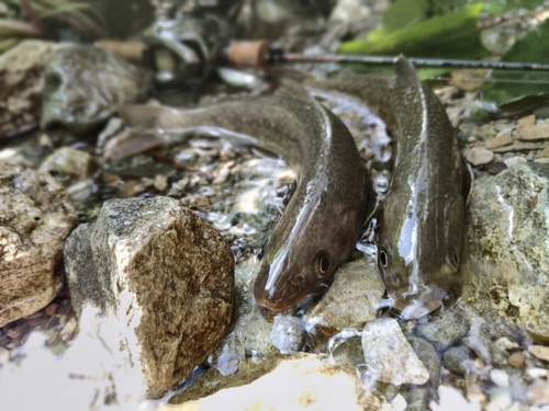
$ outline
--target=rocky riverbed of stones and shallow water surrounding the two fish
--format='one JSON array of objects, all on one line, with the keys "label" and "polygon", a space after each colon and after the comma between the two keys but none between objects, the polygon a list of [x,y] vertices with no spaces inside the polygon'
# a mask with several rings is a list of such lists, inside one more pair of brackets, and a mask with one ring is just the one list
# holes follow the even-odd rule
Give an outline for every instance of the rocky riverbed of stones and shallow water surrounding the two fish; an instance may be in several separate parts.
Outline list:
[{"label": "rocky riverbed of stones and shallow water surrounding the two fish", "polygon": [[[477,91],[435,90],[475,175],[460,287],[440,310],[402,321],[384,307],[365,228],[316,305],[268,319],[251,289],[291,195],[284,161],[203,135],[109,159],[127,130],[116,116],[105,119],[139,101],[150,77],[93,48],[32,47],[43,52],[13,76],[49,75],[14,82],[29,115],[10,109],[0,118],[35,126],[44,90],[43,129],[0,147],[7,410],[31,409],[34,398],[44,409],[549,409],[547,109],[473,121]],[[56,54],[53,67],[45,54]],[[109,81],[70,87],[81,82],[75,67],[93,65],[112,68]],[[267,92],[256,80],[250,90],[213,84],[198,104]],[[70,112],[67,102],[89,89],[101,104]],[[391,156],[383,124],[361,105],[321,101],[351,132],[382,196]]]}]

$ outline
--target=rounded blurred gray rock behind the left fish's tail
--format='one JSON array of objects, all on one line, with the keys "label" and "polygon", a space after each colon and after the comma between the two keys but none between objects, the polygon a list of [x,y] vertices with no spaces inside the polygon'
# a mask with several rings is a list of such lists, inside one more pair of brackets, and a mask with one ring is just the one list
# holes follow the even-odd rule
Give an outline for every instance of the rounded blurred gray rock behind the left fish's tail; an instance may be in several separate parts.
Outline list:
[{"label": "rounded blurred gray rock behind the left fish's tail", "polygon": [[91,46],[58,50],[44,72],[41,126],[75,134],[107,122],[120,104],[144,99],[150,75],[122,57]]}]

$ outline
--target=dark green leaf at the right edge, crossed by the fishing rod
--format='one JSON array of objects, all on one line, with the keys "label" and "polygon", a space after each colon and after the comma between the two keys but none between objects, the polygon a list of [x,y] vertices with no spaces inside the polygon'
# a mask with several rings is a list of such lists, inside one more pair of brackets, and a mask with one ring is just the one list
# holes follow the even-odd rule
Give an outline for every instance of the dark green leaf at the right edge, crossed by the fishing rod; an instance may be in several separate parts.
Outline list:
[{"label": "dark green leaf at the right edge, crossed by the fishing rod", "polygon": [[[519,38],[507,53],[504,61],[549,62],[549,20]],[[490,81],[492,80],[492,81]],[[547,71],[492,71],[482,88],[482,99],[489,102],[509,104],[531,95],[549,94]]]}]

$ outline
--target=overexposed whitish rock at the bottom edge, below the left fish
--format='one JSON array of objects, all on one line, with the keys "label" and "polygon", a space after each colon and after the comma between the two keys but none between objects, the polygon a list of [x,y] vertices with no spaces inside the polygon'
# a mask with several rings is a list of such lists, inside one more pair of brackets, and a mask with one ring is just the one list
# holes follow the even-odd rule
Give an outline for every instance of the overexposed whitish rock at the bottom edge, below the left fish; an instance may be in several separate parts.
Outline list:
[{"label": "overexposed whitish rock at the bottom edge, below the left fish", "polygon": [[[261,366],[261,362],[269,364],[273,361],[279,364],[260,378],[257,378],[254,367],[250,367],[250,384],[222,389],[210,397],[180,406],[167,404],[160,410],[362,411],[381,410],[386,403],[380,393],[363,388],[354,367],[327,365],[318,356],[302,354],[283,361],[262,359],[256,368]],[[243,383],[246,375],[238,373],[234,378]]]}]

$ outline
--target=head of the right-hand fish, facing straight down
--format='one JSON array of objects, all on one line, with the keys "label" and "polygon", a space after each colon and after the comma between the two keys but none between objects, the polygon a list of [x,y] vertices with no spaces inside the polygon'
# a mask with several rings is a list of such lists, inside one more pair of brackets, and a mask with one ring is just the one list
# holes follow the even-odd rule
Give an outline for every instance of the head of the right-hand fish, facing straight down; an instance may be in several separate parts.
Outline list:
[{"label": "head of the right-hand fish, facing straight down", "polygon": [[[396,227],[383,227],[378,265],[392,306],[403,319],[417,319],[442,304],[459,281],[463,239],[463,198],[456,193],[440,198],[438,213]],[[435,218],[437,214],[439,218]],[[388,221],[389,222],[389,221]],[[389,231],[389,232],[386,232]]]}]

